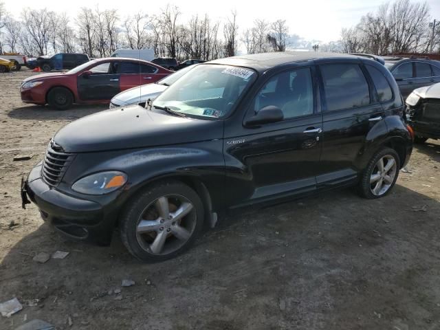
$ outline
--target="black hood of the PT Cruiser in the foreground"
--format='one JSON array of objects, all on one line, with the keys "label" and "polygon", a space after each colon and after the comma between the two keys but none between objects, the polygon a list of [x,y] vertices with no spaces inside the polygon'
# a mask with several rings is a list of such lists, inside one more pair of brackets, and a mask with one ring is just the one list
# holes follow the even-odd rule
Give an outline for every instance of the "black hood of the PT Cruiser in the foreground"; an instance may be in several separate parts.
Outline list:
[{"label": "black hood of the PT Cruiser in the foreground", "polygon": [[54,136],[66,153],[144,148],[219,139],[223,122],[182,118],[139,105],[87,115]]}]

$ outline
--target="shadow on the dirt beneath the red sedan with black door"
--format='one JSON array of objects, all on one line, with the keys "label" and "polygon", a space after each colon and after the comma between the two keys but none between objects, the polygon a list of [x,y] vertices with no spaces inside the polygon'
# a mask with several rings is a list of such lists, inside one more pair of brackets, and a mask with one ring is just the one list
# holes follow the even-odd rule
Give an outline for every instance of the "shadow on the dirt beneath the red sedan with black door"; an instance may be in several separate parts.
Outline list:
[{"label": "shadow on the dirt beneath the red sedan with black door", "polygon": [[47,106],[31,105],[9,111],[8,116],[23,120],[74,120],[85,115],[109,109],[105,104],[74,104],[68,110],[54,110]]}]

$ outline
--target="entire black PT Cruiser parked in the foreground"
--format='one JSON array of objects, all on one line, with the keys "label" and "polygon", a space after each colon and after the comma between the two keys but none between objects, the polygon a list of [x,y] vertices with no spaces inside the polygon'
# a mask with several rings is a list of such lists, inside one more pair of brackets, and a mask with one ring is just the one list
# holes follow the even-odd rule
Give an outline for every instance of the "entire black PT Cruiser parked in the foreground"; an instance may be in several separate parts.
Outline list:
[{"label": "entire black PT Cruiser parked in the foreground", "polygon": [[254,203],[357,185],[386,195],[412,151],[390,72],[360,56],[270,53],[184,74],[146,107],[58,131],[22,185],[45,221],[143,261],[172,258],[203,223]]}]

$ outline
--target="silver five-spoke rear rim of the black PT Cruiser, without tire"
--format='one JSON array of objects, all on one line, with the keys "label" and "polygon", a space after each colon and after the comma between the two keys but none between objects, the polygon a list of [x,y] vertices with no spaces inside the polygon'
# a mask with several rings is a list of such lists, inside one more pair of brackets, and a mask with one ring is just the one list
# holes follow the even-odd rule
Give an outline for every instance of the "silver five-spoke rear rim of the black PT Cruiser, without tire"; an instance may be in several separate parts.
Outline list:
[{"label": "silver five-spoke rear rim of the black PT Cruiser, without tire", "polygon": [[384,195],[393,185],[397,163],[393,156],[384,155],[375,164],[370,176],[370,190],[375,196]]}]

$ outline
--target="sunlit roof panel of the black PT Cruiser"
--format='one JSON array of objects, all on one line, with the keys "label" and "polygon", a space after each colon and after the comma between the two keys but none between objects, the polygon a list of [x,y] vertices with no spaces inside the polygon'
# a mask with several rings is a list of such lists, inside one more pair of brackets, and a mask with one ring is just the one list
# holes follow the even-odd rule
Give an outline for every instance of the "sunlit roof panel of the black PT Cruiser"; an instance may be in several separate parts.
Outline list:
[{"label": "sunlit roof panel of the black PT Cruiser", "polygon": [[283,65],[292,62],[316,60],[319,58],[360,58],[350,54],[342,53],[324,53],[324,52],[270,52],[261,54],[250,54],[242,56],[232,56],[210,61],[209,63],[237,65],[243,67],[252,67],[259,71],[264,71],[277,65]]}]

